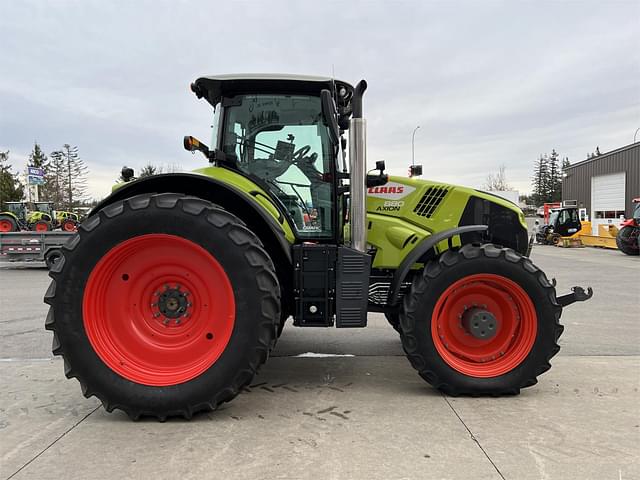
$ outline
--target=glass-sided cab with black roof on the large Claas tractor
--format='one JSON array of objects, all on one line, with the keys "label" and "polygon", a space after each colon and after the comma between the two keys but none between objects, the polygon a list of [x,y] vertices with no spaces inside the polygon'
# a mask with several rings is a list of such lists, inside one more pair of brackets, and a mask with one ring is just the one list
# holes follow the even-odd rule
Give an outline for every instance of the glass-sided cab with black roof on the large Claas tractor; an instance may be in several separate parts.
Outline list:
[{"label": "glass-sided cab with black roof on the large Claas tractor", "polygon": [[212,149],[193,137],[185,148],[262,187],[296,237],[337,241],[338,122],[347,128],[353,87],[323,77],[219,75],[198,79],[192,90],[214,107]]}]

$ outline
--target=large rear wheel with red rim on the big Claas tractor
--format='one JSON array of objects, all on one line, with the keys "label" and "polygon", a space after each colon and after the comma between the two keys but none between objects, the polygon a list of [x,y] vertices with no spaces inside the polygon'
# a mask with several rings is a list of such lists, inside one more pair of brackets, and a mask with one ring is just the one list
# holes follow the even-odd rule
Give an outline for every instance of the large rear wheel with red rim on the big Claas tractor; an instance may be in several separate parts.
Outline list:
[{"label": "large rear wheel with red rim on the big Claas tractor", "polygon": [[62,253],[45,295],[53,353],[109,412],[164,421],[214,410],[275,345],[273,263],[237,217],[207,201],[167,193],[113,203]]}]

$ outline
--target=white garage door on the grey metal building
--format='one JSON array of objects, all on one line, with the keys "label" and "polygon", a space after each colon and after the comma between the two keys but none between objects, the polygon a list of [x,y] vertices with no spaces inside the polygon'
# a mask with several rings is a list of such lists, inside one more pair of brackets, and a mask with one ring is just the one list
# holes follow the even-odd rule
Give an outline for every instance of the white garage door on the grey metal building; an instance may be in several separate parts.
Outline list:
[{"label": "white garage door on the grey metal building", "polygon": [[591,177],[591,224],[593,234],[598,234],[598,225],[620,224],[624,216],[625,172]]}]

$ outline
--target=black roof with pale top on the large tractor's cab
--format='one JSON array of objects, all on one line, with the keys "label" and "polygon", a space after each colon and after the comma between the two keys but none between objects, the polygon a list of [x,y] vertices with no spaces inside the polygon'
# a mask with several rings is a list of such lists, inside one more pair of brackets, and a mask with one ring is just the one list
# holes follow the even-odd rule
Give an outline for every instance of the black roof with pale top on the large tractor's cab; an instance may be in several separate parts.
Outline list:
[{"label": "black roof with pale top on the large tractor's cab", "polygon": [[198,98],[206,98],[215,106],[222,97],[232,97],[241,94],[307,94],[320,95],[320,91],[327,89],[332,93],[344,87],[347,97],[353,93],[353,87],[347,82],[331,77],[312,75],[293,75],[286,73],[239,73],[224,75],[209,75],[198,78],[191,84],[191,90]]}]

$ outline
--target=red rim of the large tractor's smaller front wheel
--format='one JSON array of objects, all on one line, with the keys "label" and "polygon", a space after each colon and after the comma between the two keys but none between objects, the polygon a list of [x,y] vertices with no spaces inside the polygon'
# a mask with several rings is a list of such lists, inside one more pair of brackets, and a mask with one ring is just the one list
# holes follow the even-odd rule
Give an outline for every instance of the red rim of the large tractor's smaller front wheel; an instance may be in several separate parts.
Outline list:
[{"label": "red rim of the large tractor's smaller front wheel", "polygon": [[[495,336],[480,339],[463,326],[464,312],[481,308],[497,322]],[[450,285],[440,296],[431,319],[431,337],[440,357],[460,373],[497,377],[520,365],[537,333],[535,306],[513,280],[475,274]]]}]

